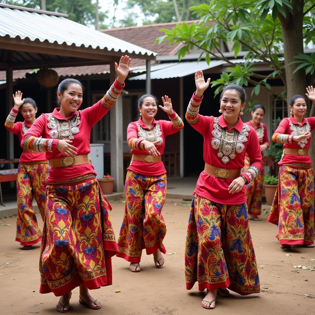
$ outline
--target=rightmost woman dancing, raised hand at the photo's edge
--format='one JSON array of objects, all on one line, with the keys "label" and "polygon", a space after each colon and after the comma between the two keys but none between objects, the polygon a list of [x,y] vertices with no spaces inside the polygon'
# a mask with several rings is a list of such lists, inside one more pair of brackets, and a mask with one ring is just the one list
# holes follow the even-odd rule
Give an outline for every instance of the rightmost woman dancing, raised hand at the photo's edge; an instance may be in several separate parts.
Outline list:
[{"label": "rightmost woman dancing, raised hand at the photo's edge", "polygon": [[[306,91],[308,99],[315,102],[315,89],[309,86]],[[284,144],[284,155],[278,162],[278,187],[268,218],[278,226],[276,237],[283,250],[290,250],[291,245],[314,247],[314,174],[308,149],[315,117],[304,117],[306,100],[302,95],[292,96],[289,107],[291,116],[284,118],[272,135],[272,141]]]}]

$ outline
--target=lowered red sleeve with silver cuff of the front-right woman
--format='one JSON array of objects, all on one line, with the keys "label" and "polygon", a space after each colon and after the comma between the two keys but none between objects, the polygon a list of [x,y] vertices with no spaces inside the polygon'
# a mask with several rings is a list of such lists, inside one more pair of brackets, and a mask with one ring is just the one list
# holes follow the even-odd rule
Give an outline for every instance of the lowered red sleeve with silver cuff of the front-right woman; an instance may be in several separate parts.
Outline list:
[{"label": "lowered red sleeve with silver cuff of the front-right woman", "polygon": [[255,130],[253,130],[254,128],[251,128],[252,132],[249,134],[248,146],[246,148],[246,152],[249,156],[250,166],[244,173],[241,174],[246,178],[247,183],[250,183],[260,173],[263,167],[258,136]]}]

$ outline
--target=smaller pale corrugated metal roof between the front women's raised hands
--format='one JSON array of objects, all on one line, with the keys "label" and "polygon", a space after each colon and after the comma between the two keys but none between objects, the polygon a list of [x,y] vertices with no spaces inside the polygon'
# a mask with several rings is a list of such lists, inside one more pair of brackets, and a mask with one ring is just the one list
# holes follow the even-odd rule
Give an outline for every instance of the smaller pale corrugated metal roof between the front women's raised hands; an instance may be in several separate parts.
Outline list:
[{"label": "smaller pale corrugated metal roof between the front women's raised hands", "polygon": [[[217,66],[221,66],[224,63],[225,61],[222,61],[222,60],[210,61],[209,65],[207,64],[206,61],[161,63],[159,65],[151,66],[151,79],[186,77],[190,74],[195,73],[197,69],[206,70],[206,69],[214,68]],[[146,74],[140,74],[139,76],[129,78],[128,80],[145,80],[145,79],[146,79]]]}]

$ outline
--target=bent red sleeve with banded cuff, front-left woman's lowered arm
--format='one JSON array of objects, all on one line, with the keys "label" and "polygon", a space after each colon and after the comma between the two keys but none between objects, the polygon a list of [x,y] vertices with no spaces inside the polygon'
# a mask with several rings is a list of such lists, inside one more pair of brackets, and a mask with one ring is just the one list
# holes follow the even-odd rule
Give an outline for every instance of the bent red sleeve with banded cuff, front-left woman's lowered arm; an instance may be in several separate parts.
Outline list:
[{"label": "bent red sleeve with banded cuff, front-left woman's lowered arm", "polygon": [[45,139],[41,138],[46,128],[47,119],[45,114],[40,115],[31,128],[24,134],[21,146],[24,149],[33,152],[53,152],[57,151],[57,144],[59,139]]}]

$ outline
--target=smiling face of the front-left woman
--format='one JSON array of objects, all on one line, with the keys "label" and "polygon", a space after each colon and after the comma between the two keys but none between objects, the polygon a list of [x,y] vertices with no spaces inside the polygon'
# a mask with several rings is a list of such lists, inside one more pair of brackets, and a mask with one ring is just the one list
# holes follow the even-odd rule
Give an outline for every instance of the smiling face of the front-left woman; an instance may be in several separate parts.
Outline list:
[{"label": "smiling face of the front-left woman", "polygon": [[72,112],[79,109],[83,101],[83,91],[80,84],[71,83],[67,89],[61,94],[57,92],[60,100],[60,108],[70,116]]}]

